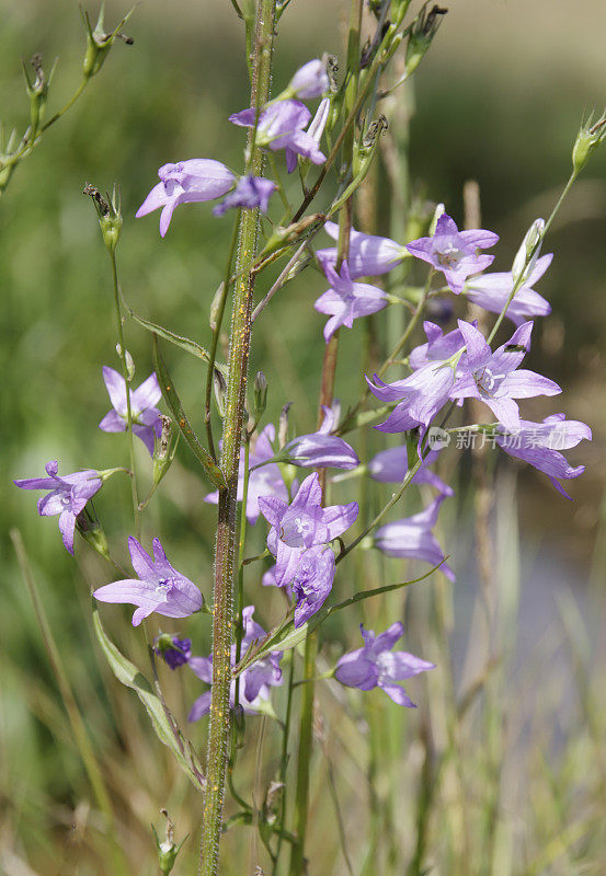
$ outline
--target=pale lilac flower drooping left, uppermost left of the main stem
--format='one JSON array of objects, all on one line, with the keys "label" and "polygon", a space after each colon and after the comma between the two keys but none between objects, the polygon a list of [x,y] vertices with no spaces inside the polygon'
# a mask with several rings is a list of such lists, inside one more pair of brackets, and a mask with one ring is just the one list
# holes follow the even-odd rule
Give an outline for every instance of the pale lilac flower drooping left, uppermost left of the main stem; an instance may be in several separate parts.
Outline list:
[{"label": "pale lilac flower drooping left, uppermost left of the main stem", "polygon": [[176,164],[163,164],[158,176],[161,182],[153,186],[135,216],[138,219],[161,207],[162,237],[169,230],[174,208],[180,204],[220,198],[236,182],[236,174],[229,168],[208,158],[192,158]]}]

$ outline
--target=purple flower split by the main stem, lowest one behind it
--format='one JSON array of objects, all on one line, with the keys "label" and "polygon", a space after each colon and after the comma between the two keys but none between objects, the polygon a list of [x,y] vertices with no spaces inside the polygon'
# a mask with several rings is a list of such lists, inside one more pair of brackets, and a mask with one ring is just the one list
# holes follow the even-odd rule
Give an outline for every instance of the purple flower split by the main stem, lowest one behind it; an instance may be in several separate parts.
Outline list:
[{"label": "purple flower split by the main stem, lowest one behind it", "polygon": [[[252,620],[254,606],[247,606],[242,611],[242,623],[244,635],[240,653],[243,656],[249,645],[254,639],[265,636],[265,631]],[[262,711],[263,704],[270,700],[270,688],[282,684],[282,669],[279,661],[281,650],[273,650],[268,657],[258,660],[255,664],[244,669],[240,676],[240,705],[248,714],[256,714]],[[191,657],[190,668],[196,676],[207,684],[213,683],[213,655],[209,657]],[[236,645],[231,646],[231,666],[236,666]],[[229,689],[229,704],[233,708],[236,702],[236,679],[232,680]],[[192,705],[188,721],[199,721],[203,715],[207,715],[210,710],[210,691],[206,691],[198,696]]]}]

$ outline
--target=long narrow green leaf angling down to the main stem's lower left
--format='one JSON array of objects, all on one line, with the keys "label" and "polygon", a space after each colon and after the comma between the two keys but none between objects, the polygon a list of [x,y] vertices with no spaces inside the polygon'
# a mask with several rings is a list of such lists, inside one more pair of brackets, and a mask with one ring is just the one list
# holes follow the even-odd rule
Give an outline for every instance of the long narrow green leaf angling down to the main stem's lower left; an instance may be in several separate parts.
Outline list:
[{"label": "long narrow green leaf angling down to the main stem's lower left", "polygon": [[135,691],[149,715],[158,739],[170,748],[179,765],[197,789],[204,791],[205,781],[202,766],[190,741],[184,738],[176,725],[173,726],[171,724],[170,713],[164,708],[147,678],[130,660],[121,654],[107,637],[94,600],[92,620],[96,638],[110,665],[110,669],[122,684]]}]

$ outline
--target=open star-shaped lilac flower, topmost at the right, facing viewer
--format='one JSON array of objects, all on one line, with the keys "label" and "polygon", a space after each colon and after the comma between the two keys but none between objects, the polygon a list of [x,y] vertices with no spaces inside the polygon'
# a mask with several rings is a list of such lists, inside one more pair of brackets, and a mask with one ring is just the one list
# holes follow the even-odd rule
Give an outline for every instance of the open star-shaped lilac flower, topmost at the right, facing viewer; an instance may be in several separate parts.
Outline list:
[{"label": "open star-shaped lilac flower, topmost at the right, facing viewer", "polygon": [[480,255],[478,250],[494,246],[498,240],[498,234],[483,229],[459,231],[455,221],[443,214],[433,238],[413,240],[407,250],[442,270],[450,289],[459,295],[470,274],[479,274],[494,261],[493,255]]}]

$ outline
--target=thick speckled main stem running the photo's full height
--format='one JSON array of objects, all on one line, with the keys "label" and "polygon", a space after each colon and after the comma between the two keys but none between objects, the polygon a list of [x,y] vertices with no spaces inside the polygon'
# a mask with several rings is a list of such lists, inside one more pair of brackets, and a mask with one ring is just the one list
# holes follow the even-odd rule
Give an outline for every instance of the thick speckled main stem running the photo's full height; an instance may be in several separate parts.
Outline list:
[{"label": "thick speckled main stem running the photo's full height", "polygon": [[[276,0],[258,0],[254,24],[251,106],[262,106],[268,99],[275,8]],[[248,170],[253,175],[261,176],[263,172],[263,154],[258,147],[253,147],[253,130],[249,135],[249,145],[250,168]],[[199,876],[217,876],[219,867],[219,843],[230,730],[229,689],[231,684],[238,473],[254,292],[254,274],[251,268],[256,249],[259,226],[259,210],[244,210],[240,222],[238,241],[237,269],[240,274],[240,279],[235,284],[233,288],[231,342],[220,457],[220,465],[226,479],[227,489],[219,492],[215,550],[213,688]]]}]

